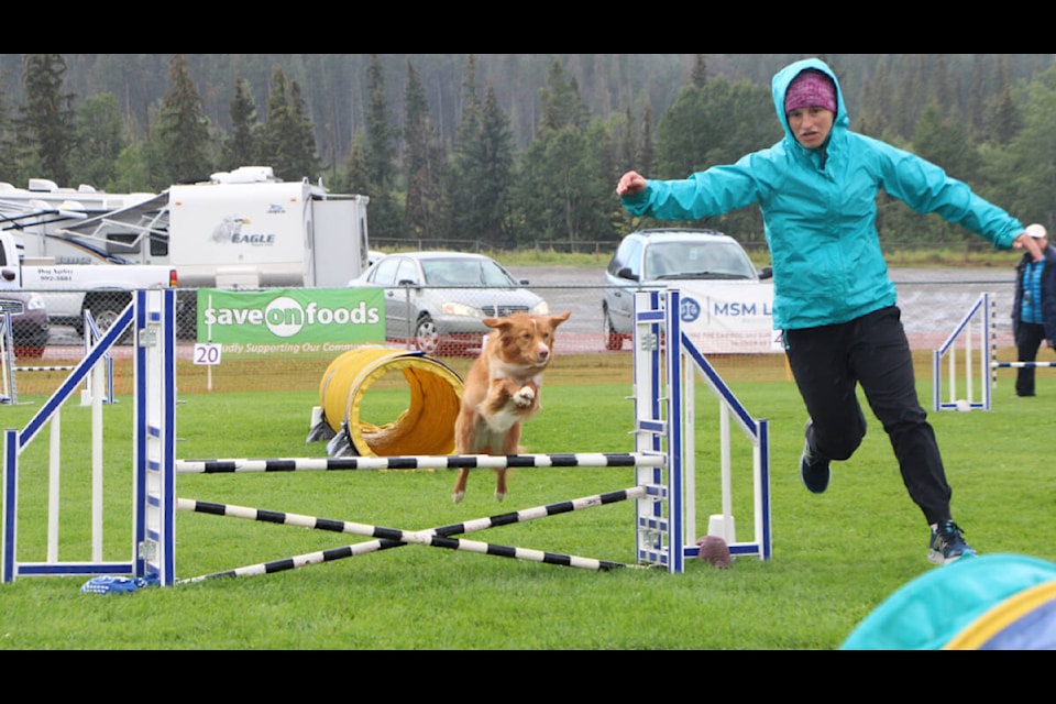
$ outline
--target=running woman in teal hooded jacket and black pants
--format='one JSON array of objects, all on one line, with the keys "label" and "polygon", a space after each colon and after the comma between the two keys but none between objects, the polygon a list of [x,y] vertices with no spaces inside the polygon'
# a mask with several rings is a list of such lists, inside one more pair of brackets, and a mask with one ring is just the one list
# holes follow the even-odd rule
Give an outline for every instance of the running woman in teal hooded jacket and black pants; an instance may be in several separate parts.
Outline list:
[{"label": "running woman in teal hooded jacket and black pants", "polygon": [[917,212],[935,212],[996,249],[1041,258],[1022,223],[936,166],[849,129],[839,81],[818,58],[779,70],[771,94],[784,138],[732,165],[681,180],[624,174],[616,193],[632,216],[695,220],[758,205],[773,266],[773,326],[806,405],[800,476],[828,488],[832,461],[861,444],[860,385],[888,433],[902,481],[930,526],[927,559],[946,564],[976,551],[950,513],[953,491],[927,414],[877,232],[884,189]]}]

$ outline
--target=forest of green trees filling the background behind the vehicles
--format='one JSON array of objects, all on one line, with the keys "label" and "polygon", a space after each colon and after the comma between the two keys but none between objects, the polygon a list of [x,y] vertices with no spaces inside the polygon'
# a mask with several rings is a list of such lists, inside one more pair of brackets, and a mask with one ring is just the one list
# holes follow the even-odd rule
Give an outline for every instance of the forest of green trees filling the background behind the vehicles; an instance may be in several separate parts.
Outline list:
[{"label": "forest of green trees filling the background behind the vehicles", "polygon": [[[270,165],[371,198],[375,241],[615,242],[628,168],[684,177],[769,146],[793,54],[0,54],[0,180],[160,191]],[[1054,227],[1053,55],[818,55],[851,128]],[[975,235],[881,195],[886,242]],[[696,221],[763,239],[758,209]]]}]

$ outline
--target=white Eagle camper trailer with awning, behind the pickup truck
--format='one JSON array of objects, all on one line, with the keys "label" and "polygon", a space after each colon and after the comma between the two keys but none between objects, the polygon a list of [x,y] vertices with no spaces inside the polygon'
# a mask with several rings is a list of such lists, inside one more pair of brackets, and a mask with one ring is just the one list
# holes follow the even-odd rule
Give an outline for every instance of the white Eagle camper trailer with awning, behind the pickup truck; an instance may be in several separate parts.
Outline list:
[{"label": "white Eagle camper trailer with awning, behind the pickup truck", "polygon": [[[116,270],[113,282],[129,265],[164,265],[188,289],[344,287],[367,266],[370,199],[330,194],[321,182],[282,182],[267,166],[220,172],[155,196],[63,190],[44,179],[25,191],[3,186],[0,231],[21,238],[25,256],[117,264],[106,267]],[[188,334],[195,296],[182,299]]]}]

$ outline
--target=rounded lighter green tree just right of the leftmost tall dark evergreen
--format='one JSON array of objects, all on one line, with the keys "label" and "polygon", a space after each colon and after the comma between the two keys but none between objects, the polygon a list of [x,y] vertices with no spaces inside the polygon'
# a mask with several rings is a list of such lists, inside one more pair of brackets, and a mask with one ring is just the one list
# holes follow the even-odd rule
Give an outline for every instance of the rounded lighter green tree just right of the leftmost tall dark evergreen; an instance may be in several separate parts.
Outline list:
[{"label": "rounded lighter green tree just right of the leftmost tall dark evergreen", "polygon": [[70,158],[70,185],[111,190],[118,156],[127,145],[117,97],[105,92],[87,98],[77,109],[76,130],[79,148]]}]

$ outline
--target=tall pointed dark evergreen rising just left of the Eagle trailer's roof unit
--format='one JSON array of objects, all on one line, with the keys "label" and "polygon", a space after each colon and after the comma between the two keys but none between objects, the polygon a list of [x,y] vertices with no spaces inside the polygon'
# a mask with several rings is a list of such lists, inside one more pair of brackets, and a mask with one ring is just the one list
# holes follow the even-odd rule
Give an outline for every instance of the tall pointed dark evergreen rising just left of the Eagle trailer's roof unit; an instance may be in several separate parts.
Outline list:
[{"label": "tall pointed dark evergreen rising just left of the Eagle trailer's roof unit", "polygon": [[[162,187],[206,180],[212,173],[212,139],[183,54],[174,54],[168,67],[168,92],[162,103],[158,132],[167,175]],[[155,177],[157,174],[154,175]]]}]

